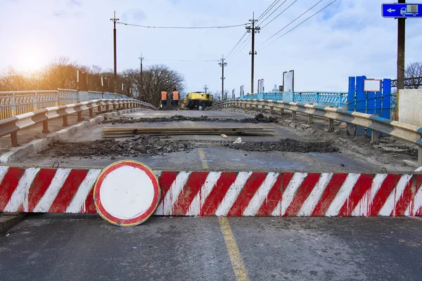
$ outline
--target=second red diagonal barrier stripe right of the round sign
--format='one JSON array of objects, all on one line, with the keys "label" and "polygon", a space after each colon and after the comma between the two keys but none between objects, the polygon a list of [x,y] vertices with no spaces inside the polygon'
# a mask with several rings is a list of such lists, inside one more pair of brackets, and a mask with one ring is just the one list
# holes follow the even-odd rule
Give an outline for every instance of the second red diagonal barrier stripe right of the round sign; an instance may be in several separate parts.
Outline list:
[{"label": "second red diagonal barrier stripe right of the round sign", "polygon": [[188,212],[193,199],[196,197],[200,188],[207,180],[207,171],[193,171],[181,190],[177,202],[173,206],[172,214],[177,216],[184,216]]}]

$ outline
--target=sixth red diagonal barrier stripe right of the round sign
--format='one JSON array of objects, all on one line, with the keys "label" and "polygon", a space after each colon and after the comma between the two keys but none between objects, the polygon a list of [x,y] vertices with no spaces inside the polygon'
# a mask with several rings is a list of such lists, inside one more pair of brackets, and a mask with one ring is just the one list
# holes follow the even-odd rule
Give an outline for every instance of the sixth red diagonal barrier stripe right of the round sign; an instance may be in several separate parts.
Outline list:
[{"label": "sixth red diagonal barrier stripe right of the round sign", "polygon": [[293,201],[290,203],[290,205],[286,209],[286,213],[284,214],[284,216],[298,216],[298,212],[300,211],[300,208],[302,208],[303,203],[305,203],[305,200],[307,199],[309,194],[311,194],[316,183],[318,183],[319,177],[320,177],[320,174],[307,175],[305,180],[303,180],[302,184],[296,191],[296,194],[293,197]]}]

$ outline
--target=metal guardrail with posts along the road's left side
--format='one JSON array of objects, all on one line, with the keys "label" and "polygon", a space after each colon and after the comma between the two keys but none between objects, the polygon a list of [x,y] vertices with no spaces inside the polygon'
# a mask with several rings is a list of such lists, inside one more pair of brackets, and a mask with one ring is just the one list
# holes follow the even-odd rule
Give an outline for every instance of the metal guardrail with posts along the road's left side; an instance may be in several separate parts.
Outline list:
[{"label": "metal guardrail with posts along the road's left side", "polygon": [[59,105],[53,107],[46,107],[40,110],[34,110],[32,112],[26,112],[21,115],[9,117],[0,120],[0,137],[11,135],[11,141],[13,146],[18,145],[18,131],[35,124],[43,124],[43,133],[49,133],[49,120],[63,117],[63,126],[68,126],[68,116],[77,113],[77,121],[82,121],[82,112],[89,110],[89,117],[94,117],[93,109],[98,108],[98,112],[101,111],[101,107],[106,107],[106,112],[110,110],[110,106],[113,109],[116,107],[141,107],[144,109],[157,110],[156,107],[149,103],[144,103],[140,100],[134,99],[114,99],[114,100],[91,100],[82,103],[72,103],[70,105]]}]

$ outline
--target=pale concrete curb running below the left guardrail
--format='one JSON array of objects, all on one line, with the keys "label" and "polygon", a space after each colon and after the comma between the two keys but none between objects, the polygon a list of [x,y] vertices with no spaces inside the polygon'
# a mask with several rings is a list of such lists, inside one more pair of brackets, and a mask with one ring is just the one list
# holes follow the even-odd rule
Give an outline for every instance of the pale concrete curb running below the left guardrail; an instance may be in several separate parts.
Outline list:
[{"label": "pale concrete curb running below the left guardrail", "polygon": [[107,112],[102,115],[98,115],[93,119],[89,119],[84,122],[80,122],[73,126],[70,126],[66,129],[61,129],[60,131],[56,131],[54,133],[49,133],[46,135],[46,138],[37,139],[27,143],[25,145],[20,145],[17,148],[12,148],[11,151],[4,153],[0,156],[0,163],[10,163],[13,161],[20,161],[20,159],[24,159],[30,155],[35,153],[41,152],[48,148],[51,143],[55,143],[56,141],[65,141],[66,139],[70,138],[70,136],[74,135],[75,133],[82,131],[84,129],[91,128],[100,122],[103,122],[105,119],[110,119],[111,117],[117,117],[120,115],[124,115],[131,112],[141,111],[142,108],[132,108],[129,110],[120,110],[115,112]]}]

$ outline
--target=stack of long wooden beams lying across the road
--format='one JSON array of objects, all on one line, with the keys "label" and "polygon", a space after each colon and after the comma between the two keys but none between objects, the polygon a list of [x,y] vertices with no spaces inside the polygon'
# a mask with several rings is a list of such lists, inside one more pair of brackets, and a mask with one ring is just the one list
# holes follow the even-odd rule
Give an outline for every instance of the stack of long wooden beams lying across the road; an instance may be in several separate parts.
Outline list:
[{"label": "stack of long wooden beams lying across the road", "polygon": [[202,127],[105,127],[103,138],[123,138],[135,135],[177,136],[177,135],[221,135],[226,136],[274,136],[270,126],[202,126]]}]

